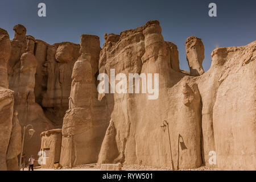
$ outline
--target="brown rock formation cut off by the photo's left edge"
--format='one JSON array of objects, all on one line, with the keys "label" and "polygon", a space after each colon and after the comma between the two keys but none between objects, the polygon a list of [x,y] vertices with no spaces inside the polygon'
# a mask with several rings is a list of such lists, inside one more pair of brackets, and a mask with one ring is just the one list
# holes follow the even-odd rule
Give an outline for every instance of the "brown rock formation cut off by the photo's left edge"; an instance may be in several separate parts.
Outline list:
[{"label": "brown rock formation cut off by the photo's left edge", "polygon": [[0,170],[18,170],[18,155],[21,149],[18,113],[13,112],[14,92],[8,89],[7,63],[10,55],[9,34],[0,28]]}]

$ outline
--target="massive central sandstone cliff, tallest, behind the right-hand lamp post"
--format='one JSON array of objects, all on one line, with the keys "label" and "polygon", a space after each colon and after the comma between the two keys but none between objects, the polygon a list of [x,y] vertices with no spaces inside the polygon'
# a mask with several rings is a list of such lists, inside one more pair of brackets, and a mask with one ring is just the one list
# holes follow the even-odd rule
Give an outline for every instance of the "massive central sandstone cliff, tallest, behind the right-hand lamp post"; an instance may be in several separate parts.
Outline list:
[{"label": "massive central sandstone cliff, tallest, behind the right-hand lamp post", "polygon": [[[179,72],[177,48],[165,42],[158,21],[135,30],[109,35],[101,51],[99,70],[115,74],[159,73],[159,97],[148,93],[114,93],[110,125],[102,143],[98,164],[124,163],[171,166],[169,143],[175,168],[201,165],[201,98],[195,78]],[[118,39],[119,38],[119,39]],[[128,84],[127,84],[128,85]],[[163,121],[170,123],[171,141]],[[186,149],[179,150],[183,137]],[[182,160],[181,160],[182,159]]]}]

